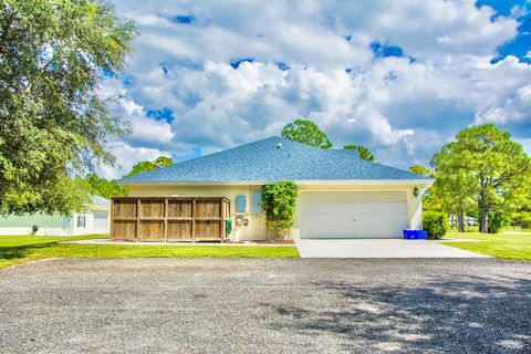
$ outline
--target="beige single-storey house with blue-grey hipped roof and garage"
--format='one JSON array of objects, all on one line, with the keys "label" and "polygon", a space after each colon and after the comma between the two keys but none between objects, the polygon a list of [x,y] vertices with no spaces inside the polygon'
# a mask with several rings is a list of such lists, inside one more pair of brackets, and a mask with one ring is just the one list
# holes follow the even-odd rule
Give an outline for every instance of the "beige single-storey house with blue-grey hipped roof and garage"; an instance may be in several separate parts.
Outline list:
[{"label": "beige single-storey house with blue-grey hipped roof and garage", "polygon": [[421,228],[421,189],[433,180],[369,163],[353,150],[321,149],[279,137],[229,148],[121,179],[131,197],[225,197],[235,240],[267,237],[261,187],[299,187],[290,237],[399,238]]}]

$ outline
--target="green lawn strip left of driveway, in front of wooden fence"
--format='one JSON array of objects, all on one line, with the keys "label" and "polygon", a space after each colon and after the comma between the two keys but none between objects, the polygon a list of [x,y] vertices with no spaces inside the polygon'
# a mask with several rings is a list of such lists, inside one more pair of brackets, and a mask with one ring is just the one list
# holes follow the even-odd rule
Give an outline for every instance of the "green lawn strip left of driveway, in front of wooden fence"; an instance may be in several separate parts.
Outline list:
[{"label": "green lawn strip left of driveway, in front of wooden fence", "polygon": [[290,246],[128,246],[65,244],[69,240],[107,238],[104,235],[76,237],[0,236],[0,269],[49,258],[299,258]]}]

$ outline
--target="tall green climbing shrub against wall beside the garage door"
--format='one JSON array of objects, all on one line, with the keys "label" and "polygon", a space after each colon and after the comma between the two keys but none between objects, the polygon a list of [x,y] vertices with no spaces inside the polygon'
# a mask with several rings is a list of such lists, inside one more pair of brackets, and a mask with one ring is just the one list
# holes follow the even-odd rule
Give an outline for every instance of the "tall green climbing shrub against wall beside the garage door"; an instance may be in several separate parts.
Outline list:
[{"label": "tall green climbing shrub against wall beside the garage door", "polygon": [[279,181],[262,187],[262,208],[268,217],[268,231],[282,239],[293,226],[299,189],[292,181]]}]

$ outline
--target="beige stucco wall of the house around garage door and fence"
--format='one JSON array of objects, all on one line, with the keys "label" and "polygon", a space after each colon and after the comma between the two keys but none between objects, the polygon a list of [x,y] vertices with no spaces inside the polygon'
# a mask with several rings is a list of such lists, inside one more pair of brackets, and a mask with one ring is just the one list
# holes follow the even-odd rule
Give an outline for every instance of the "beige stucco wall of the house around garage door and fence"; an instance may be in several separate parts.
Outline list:
[{"label": "beige stucco wall of the house around garage door and fence", "polygon": [[[413,196],[412,185],[369,185],[369,186],[340,186],[340,185],[300,185],[299,190],[304,191],[404,191],[407,199],[408,207],[408,227],[414,229],[421,229],[423,226],[423,205],[421,205],[421,190],[419,196]],[[218,185],[218,186],[171,186],[171,185],[158,185],[158,186],[129,186],[129,196],[132,197],[227,197],[230,200],[230,217],[236,220],[236,196],[246,196],[246,214],[239,217],[247,218],[249,225],[239,226],[233,222],[233,232],[231,235],[232,240],[261,240],[267,238],[266,229],[266,216],[252,215],[252,192],[259,191],[261,186],[249,185]],[[420,186],[418,186],[420,189]],[[299,209],[299,208],[296,208]],[[299,239],[299,217],[295,214],[295,225],[291,230],[290,237]]]}]

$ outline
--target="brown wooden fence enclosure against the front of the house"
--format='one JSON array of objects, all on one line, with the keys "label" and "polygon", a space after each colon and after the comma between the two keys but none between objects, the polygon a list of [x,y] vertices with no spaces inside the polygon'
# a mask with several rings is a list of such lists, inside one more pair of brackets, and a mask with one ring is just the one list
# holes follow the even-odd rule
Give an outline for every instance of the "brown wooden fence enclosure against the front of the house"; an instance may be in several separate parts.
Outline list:
[{"label": "brown wooden fence enclosure against the front of the house", "polygon": [[119,197],[111,204],[111,239],[225,241],[230,205],[222,197]]}]

